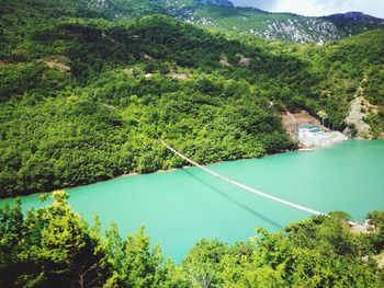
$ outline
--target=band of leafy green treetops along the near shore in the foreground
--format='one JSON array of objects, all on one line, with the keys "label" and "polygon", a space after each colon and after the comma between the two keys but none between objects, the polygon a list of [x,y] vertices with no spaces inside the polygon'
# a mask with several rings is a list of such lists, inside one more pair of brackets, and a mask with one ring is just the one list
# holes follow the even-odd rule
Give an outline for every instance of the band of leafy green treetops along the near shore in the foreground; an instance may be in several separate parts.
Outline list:
[{"label": "band of leafy green treetops along the near shore in the foreground", "polygon": [[384,212],[371,214],[377,232],[352,234],[339,221],[314,217],[278,233],[262,229],[249,242],[202,240],[181,264],[165,261],[139,229],[122,239],[112,223],[102,235],[56,192],[50,206],[22,214],[0,210],[1,287],[383,287],[372,255],[383,249]]}]

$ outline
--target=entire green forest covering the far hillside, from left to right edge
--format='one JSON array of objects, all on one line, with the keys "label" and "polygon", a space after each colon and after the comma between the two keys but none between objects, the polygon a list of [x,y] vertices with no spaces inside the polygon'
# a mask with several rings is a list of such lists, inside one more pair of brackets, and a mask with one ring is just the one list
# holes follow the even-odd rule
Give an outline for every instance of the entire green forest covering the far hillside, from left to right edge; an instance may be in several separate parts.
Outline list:
[{"label": "entire green forest covering the far hillside, from left to right edge", "polygon": [[185,164],[160,138],[201,163],[296,149],[280,113],[342,130],[360,87],[384,131],[383,31],[296,45],[83,1],[1,5],[0,197]]}]

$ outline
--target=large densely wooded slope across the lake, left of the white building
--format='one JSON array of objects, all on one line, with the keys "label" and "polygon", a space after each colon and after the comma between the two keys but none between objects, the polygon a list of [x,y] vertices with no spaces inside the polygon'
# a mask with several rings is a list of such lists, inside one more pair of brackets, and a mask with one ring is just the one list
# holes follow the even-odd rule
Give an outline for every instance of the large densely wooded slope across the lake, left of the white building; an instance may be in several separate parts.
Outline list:
[{"label": "large densely wooded slope across the lake, left of the white building", "polygon": [[[268,97],[235,81],[251,74],[235,65],[238,53],[278,64],[260,48],[158,15],[109,22],[5,9],[2,197],[182,165],[159,137],[200,162],[294,148]],[[237,67],[222,67],[223,54]]]}]

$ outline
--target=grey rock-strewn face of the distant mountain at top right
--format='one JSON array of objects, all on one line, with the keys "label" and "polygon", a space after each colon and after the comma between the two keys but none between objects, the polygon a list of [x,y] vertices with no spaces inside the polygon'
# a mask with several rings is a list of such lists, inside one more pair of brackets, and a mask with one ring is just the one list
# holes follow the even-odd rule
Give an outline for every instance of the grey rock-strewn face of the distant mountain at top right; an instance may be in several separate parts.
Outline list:
[{"label": "grey rock-strewn face of the distant mountain at top right", "polygon": [[[222,1],[200,1],[213,4]],[[268,39],[295,43],[318,43],[349,37],[375,28],[384,28],[384,20],[360,12],[307,18],[290,13],[269,13],[258,9],[233,8],[221,4],[219,11],[185,7],[173,10],[179,20],[194,24],[211,25],[236,32],[247,32]]]}]

